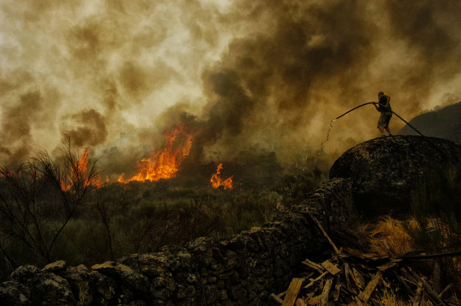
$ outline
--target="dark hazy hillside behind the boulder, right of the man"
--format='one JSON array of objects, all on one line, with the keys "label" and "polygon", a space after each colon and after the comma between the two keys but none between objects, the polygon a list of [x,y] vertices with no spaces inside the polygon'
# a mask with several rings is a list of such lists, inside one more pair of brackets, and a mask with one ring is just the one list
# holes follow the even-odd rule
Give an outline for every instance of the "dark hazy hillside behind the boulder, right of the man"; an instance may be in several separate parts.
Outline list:
[{"label": "dark hazy hillside behind the boulder, right of the man", "polygon": [[[425,136],[445,138],[461,143],[461,101],[441,110],[416,116],[411,119],[410,124]],[[405,125],[397,134],[416,135],[417,133]]]}]

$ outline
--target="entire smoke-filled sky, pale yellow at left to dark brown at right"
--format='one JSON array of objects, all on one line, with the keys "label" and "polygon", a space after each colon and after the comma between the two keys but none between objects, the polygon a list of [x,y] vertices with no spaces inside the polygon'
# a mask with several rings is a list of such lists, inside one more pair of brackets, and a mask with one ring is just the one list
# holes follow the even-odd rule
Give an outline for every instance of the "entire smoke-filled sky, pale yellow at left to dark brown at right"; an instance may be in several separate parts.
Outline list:
[{"label": "entire smoke-filled sky, pale yellow at left to dark brown at right", "polygon": [[[196,158],[258,147],[290,161],[379,91],[407,119],[461,100],[460,12],[457,0],[3,0],[0,159],[66,133],[132,164],[185,122]],[[378,136],[378,115],[334,122],[325,151]]]}]

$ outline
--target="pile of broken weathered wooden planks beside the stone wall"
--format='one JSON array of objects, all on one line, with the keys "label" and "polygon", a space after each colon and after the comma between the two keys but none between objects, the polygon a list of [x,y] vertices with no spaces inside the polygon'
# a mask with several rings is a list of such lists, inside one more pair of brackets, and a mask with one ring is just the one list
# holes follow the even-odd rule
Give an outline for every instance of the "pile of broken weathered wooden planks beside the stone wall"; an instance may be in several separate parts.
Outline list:
[{"label": "pile of broken weathered wooden planks beside the stone wall", "polygon": [[321,263],[309,259],[302,263],[301,277],[293,278],[287,291],[271,294],[271,304],[373,305],[388,291],[415,306],[459,305],[454,298],[446,298],[452,285],[435,291],[430,280],[401,259],[342,248]]}]

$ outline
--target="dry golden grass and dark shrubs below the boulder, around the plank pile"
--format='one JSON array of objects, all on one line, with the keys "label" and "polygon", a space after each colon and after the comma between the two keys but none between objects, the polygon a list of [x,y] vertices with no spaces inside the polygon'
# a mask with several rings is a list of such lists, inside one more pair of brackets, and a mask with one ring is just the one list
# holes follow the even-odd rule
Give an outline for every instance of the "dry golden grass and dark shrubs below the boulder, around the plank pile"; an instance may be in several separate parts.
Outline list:
[{"label": "dry golden grass and dark shrubs below the boulder, around the plank pile", "polygon": [[[355,220],[347,229],[365,252],[403,258],[421,271],[437,295],[461,302],[461,177],[439,169],[412,194],[411,213]],[[454,253],[454,254],[453,254]],[[426,254],[427,258],[420,256]],[[436,254],[436,256],[430,256]],[[451,255],[450,255],[451,254]],[[408,259],[405,259],[408,258]],[[416,290],[416,287],[414,287]],[[377,305],[410,305],[404,290],[386,292]]]}]

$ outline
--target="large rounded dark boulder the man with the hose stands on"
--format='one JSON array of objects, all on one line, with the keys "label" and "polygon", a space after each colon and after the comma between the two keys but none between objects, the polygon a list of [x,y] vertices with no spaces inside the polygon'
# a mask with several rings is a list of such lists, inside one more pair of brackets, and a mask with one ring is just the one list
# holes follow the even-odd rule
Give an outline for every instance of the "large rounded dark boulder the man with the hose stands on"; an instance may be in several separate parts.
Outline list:
[{"label": "large rounded dark boulder the man with the hose stands on", "polygon": [[[437,146],[437,148],[435,147]],[[411,195],[435,171],[458,170],[461,145],[421,136],[380,137],[338,158],[330,179],[351,178],[354,202],[369,215],[410,211]]]}]

